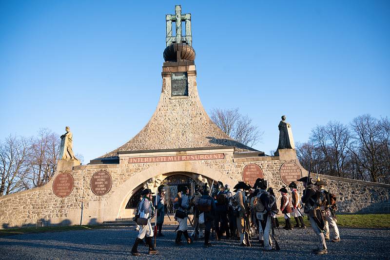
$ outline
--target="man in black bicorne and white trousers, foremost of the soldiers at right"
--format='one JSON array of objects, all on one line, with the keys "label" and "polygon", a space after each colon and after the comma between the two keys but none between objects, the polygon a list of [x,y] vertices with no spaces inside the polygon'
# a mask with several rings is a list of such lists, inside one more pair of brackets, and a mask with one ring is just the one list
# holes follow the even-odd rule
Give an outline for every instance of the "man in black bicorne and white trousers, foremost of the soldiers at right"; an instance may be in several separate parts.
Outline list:
[{"label": "man in black bicorne and white trousers, foremost of the soldiers at right", "polygon": [[[308,180],[309,178],[309,180]],[[328,254],[323,228],[324,223],[322,216],[318,216],[317,210],[317,188],[312,184],[312,178],[303,177],[297,181],[302,181],[305,190],[303,191],[302,202],[305,203],[305,213],[309,216],[310,225],[312,226],[318,238],[318,246],[312,252],[317,255]],[[319,213],[321,215],[321,213]]]}]

